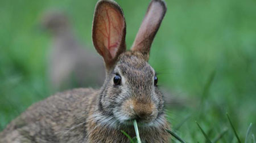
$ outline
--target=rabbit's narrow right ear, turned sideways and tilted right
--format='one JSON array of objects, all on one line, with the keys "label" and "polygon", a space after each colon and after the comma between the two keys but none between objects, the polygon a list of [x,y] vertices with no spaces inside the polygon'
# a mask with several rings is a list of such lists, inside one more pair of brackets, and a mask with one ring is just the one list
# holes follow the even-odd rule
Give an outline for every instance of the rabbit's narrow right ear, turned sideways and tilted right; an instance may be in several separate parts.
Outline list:
[{"label": "rabbit's narrow right ear, turned sideways and tilted right", "polygon": [[144,16],[139,32],[134,40],[131,50],[138,50],[148,55],[150,46],[154,40],[155,34],[158,31],[160,24],[166,14],[166,3],[162,0],[152,0],[147,8],[147,13]]}]

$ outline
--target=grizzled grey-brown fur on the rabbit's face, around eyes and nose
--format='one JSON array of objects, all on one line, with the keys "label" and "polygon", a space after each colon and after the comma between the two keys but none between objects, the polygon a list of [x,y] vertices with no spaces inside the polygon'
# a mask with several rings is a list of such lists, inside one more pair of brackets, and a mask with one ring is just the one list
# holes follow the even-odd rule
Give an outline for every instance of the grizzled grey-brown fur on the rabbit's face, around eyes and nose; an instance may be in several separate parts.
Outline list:
[{"label": "grizzled grey-brown fur on the rabbit's face, around eyes and nose", "polygon": [[[134,100],[134,102],[142,104],[150,103],[154,106],[154,110],[144,122],[153,122],[158,114],[163,112],[163,96],[158,87],[154,85],[154,69],[141,57],[124,53],[120,55],[118,63],[110,72],[106,85],[113,85],[111,79],[117,74],[121,75],[122,83],[119,86],[104,88],[104,92],[107,93],[105,95],[110,96],[101,97],[102,109],[108,109],[108,114],[113,114],[118,119],[118,123],[126,124],[130,123],[132,119],[137,119],[133,105],[122,109],[127,100]],[[113,105],[115,106],[113,107]]]}]

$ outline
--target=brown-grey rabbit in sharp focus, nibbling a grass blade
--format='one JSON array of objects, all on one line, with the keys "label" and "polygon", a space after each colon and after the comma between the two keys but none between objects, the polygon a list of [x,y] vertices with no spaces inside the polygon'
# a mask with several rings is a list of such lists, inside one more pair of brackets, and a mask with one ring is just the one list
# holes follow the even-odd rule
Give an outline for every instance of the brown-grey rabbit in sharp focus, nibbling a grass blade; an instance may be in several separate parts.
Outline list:
[{"label": "brown-grey rabbit in sharp focus, nibbling a grass blade", "polygon": [[150,46],[166,13],[152,0],[134,44],[126,51],[126,23],[114,1],[96,5],[93,44],[104,58],[106,79],[99,90],[73,89],[35,103],[0,134],[0,142],[129,142],[138,123],[142,142],[168,142],[170,128],[154,69],[147,63]]}]

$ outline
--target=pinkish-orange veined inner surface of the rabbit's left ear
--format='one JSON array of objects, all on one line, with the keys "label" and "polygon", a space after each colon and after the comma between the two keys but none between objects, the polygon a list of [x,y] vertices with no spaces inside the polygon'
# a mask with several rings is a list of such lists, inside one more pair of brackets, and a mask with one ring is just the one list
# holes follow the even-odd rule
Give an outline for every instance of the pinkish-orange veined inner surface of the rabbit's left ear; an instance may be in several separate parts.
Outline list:
[{"label": "pinkish-orange veined inner surface of the rabbit's left ear", "polygon": [[125,23],[123,16],[115,8],[104,5],[99,9],[97,21],[97,43],[101,42],[114,58],[122,41]]}]

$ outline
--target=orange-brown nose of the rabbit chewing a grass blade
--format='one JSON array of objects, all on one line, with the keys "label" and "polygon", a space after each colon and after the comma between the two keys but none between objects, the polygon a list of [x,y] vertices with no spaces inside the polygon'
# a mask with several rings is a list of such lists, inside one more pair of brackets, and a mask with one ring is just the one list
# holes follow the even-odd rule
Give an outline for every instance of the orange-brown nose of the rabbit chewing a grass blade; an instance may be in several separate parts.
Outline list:
[{"label": "orange-brown nose of the rabbit chewing a grass blade", "polygon": [[146,119],[152,114],[152,105],[138,103],[134,105],[134,112],[140,119]]}]

